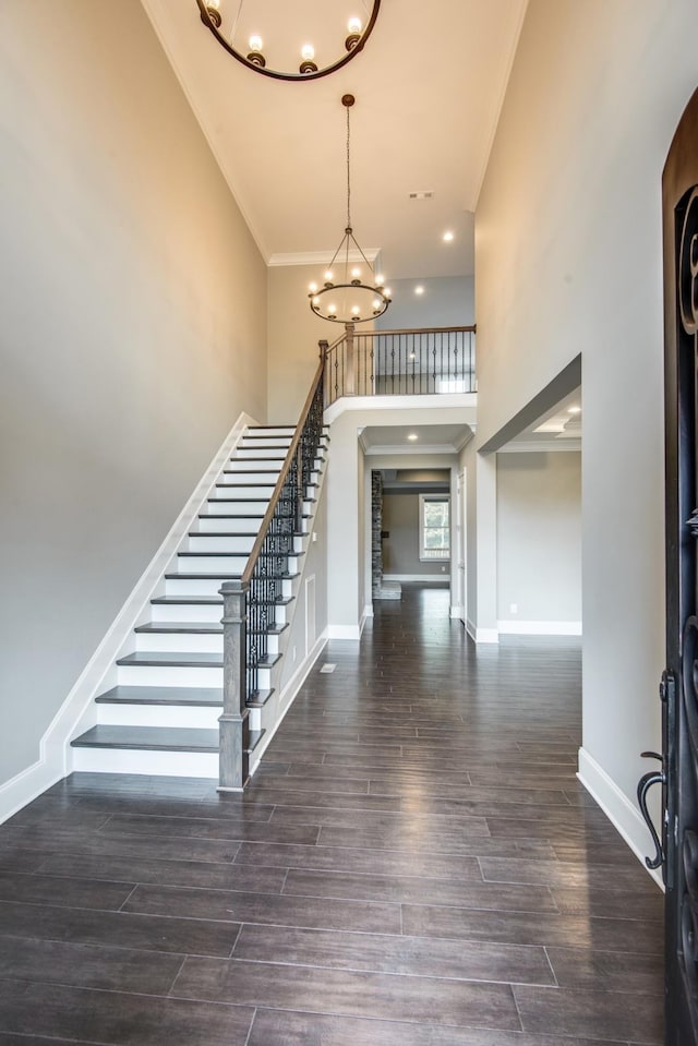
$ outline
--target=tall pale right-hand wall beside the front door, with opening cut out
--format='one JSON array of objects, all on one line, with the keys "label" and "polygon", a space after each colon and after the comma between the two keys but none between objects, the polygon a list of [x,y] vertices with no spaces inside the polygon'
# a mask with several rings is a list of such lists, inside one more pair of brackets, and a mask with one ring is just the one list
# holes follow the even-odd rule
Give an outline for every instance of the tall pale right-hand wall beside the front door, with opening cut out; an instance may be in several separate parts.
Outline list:
[{"label": "tall pale right-hand wall beside the front door, with opening cut out", "polygon": [[479,444],[582,357],[582,757],[628,835],[660,744],[660,187],[695,26],[693,0],[530,0],[477,212]]}]

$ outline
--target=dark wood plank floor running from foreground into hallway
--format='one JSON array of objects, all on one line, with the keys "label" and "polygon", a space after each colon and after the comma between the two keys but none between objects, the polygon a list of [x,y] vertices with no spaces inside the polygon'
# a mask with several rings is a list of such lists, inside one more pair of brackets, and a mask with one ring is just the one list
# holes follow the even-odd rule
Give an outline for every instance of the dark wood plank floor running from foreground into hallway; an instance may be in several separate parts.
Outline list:
[{"label": "dark wood plank floor running from foreground into hallway", "polygon": [[0,1046],[661,1043],[579,645],[476,650],[447,609],[405,586],[330,644],[243,797],[75,774],[2,826]]}]

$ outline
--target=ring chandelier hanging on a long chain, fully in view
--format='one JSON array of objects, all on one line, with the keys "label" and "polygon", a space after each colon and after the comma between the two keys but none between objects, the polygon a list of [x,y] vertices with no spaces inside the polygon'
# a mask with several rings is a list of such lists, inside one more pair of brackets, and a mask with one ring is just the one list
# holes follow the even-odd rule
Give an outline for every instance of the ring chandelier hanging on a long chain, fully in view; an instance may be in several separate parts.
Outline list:
[{"label": "ring chandelier hanging on a long chain, fully in view", "polygon": [[[353,95],[342,95],[347,110],[347,225],[323,277],[322,286],[310,285],[310,308],[321,320],[333,323],[365,323],[382,316],[390,304],[390,291],[376,276],[351,227],[350,124]],[[337,274],[337,275],[336,275]]]}]

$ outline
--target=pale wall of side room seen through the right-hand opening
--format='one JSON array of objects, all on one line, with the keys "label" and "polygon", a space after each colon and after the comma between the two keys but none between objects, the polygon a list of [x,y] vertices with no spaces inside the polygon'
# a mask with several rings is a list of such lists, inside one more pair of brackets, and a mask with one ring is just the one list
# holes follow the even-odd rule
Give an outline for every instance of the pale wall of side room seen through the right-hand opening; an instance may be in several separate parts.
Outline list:
[{"label": "pale wall of side room seen through the right-hand opening", "polygon": [[497,455],[497,618],[543,635],[581,622],[578,450]]}]

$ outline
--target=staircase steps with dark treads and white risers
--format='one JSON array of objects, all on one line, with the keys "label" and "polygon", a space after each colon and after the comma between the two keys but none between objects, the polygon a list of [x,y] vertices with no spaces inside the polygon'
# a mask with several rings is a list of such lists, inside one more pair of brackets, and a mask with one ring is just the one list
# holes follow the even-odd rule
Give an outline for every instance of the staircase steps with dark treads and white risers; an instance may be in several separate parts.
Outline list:
[{"label": "staircase steps with dark treads and white risers", "polygon": [[[112,673],[91,725],[71,741],[73,770],[218,777],[222,711],[224,581],[240,578],[293,438],[291,426],[245,430]],[[303,491],[301,527],[285,558],[280,594],[264,613],[265,657],[248,688],[249,752],[265,733],[262,709],[280,675],[285,633],[322,481],[327,437]],[[254,629],[254,623],[250,623]],[[131,649],[132,648],[132,649]]]}]

